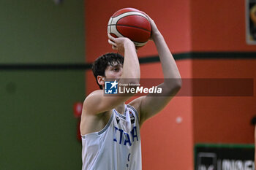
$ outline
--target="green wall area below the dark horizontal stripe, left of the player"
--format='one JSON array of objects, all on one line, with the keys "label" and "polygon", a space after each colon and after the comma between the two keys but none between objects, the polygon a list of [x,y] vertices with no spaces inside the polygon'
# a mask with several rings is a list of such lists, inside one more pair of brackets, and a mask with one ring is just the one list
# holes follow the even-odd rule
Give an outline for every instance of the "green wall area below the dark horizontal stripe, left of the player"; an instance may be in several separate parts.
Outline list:
[{"label": "green wall area below the dark horizontal stripe, left of the player", "polygon": [[80,169],[83,71],[0,72],[0,169]]}]

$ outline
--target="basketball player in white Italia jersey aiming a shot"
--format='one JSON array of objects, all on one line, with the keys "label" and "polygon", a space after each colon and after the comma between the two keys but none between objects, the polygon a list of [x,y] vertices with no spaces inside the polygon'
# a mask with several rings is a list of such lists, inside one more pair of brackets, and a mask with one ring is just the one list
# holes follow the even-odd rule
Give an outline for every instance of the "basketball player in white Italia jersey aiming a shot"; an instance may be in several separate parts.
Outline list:
[{"label": "basketball player in white Italia jersey aiming a shot", "polygon": [[[157,47],[165,82],[159,96],[140,96],[125,104],[130,96],[104,95],[105,80],[116,79],[118,83],[138,84],[140,65],[135,45],[127,38],[114,38],[108,34],[108,42],[118,53],[108,53],[93,63],[97,84],[95,90],[83,102],[80,123],[82,135],[83,170],[140,170],[140,127],[162,110],[181,88],[181,76],[165,39],[154,20],[151,23],[151,40]],[[173,81],[167,81],[172,79]],[[113,84],[115,86],[116,84]]]}]

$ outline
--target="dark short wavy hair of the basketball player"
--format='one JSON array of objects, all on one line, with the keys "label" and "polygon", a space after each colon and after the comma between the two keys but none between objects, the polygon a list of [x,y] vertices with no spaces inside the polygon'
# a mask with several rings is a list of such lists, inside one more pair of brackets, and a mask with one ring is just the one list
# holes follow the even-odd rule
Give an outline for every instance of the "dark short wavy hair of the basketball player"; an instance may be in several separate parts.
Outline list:
[{"label": "dark short wavy hair of the basketball player", "polygon": [[[96,79],[97,84],[99,82],[97,80],[97,76],[105,77],[105,70],[108,66],[113,66],[114,63],[124,63],[124,57],[118,53],[106,53],[105,55],[97,58],[94,63],[92,63],[92,72],[94,73],[94,77]],[[102,85],[99,85],[99,88],[102,89]]]}]

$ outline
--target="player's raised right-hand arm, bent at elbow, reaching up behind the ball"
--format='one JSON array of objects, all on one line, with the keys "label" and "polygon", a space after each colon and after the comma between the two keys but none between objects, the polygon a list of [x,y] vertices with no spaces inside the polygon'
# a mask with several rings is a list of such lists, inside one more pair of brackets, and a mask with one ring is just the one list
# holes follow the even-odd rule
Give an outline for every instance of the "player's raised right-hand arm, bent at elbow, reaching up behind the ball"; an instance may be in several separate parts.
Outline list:
[{"label": "player's raised right-hand arm, bent at elbow, reaching up behind the ball", "polygon": [[140,106],[140,125],[162,110],[181,88],[181,75],[178,72],[173,55],[170,53],[165,39],[159,32],[154,20],[149,17],[148,19],[152,27],[151,39],[157,47],[165,80],[161,85],[158,85],[159,88],[162,88],[161,94],[142,96],[133,102],[135,107]]}]

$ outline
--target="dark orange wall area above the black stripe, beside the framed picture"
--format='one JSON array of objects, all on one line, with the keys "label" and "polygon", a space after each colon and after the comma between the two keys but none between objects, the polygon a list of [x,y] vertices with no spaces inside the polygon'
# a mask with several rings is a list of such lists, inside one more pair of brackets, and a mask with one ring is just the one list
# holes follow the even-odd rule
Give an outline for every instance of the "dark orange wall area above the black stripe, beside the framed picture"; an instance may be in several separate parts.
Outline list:
[{"label": "dark orange wall area above the black stripe, beside the framed picture", "polygon": [[256,51],[246,45],[245,1],[191,1],[192,51]]}]

